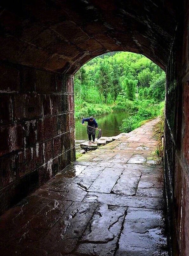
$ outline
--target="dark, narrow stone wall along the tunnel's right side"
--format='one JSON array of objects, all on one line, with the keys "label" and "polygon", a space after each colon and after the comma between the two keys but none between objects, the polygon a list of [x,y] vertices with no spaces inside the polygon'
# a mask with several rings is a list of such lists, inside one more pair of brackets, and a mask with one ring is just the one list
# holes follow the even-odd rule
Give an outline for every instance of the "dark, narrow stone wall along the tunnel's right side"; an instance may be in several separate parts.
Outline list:
[{"label": "dark, narrow stone wall along the tunnel's right side", "polygon": [[189,255],[188,190],[188,9],[181,10],[166,81],[165,193],[172,255]]}]

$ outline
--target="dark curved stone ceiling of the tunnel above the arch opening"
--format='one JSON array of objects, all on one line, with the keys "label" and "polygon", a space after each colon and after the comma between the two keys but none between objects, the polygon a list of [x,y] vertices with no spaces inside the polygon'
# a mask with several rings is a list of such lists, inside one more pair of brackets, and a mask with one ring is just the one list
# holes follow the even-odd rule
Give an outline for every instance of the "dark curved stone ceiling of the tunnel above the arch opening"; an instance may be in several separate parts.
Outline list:
[{"label": "dark curved stone ceiling of the tunnel above the arch opening", "polygon": [[172,2],[4,1],[0,58],[72,74],[97,55],[131,51],[165,69],[176,28]]}]

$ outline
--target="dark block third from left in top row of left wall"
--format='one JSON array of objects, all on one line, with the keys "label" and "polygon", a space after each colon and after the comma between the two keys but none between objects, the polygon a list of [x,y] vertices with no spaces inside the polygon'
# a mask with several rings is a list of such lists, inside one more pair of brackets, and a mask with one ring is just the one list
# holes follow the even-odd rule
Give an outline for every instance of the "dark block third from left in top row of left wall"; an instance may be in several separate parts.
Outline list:
[{"label": "dark block third from left in top row of left wall", "polygon": [[55,92],[55,75],[53,73],[35,70],[35,86],[37,92]]}]

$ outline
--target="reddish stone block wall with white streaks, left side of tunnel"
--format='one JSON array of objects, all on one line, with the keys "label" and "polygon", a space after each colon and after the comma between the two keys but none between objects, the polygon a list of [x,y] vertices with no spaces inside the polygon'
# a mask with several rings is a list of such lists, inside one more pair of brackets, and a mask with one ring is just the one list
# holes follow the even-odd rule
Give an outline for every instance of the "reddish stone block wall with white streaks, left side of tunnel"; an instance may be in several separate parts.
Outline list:
[{"label": "reddish stone block wall with white streaks, left side of tunnel", "polygon": [[73,77],[0,64],[0,214],[75,159]]}]

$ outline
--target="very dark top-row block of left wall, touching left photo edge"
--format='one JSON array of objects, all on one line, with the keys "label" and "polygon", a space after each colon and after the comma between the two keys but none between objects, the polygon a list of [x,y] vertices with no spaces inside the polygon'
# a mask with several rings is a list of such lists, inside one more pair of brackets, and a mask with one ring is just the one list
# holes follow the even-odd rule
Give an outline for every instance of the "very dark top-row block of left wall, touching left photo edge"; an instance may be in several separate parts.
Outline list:
[{"label": "very dark top-row block of left wall, touching left photo edge", "polygon": [[0,92],[20,91],[20,71],[10,65],[0,65]]}]

